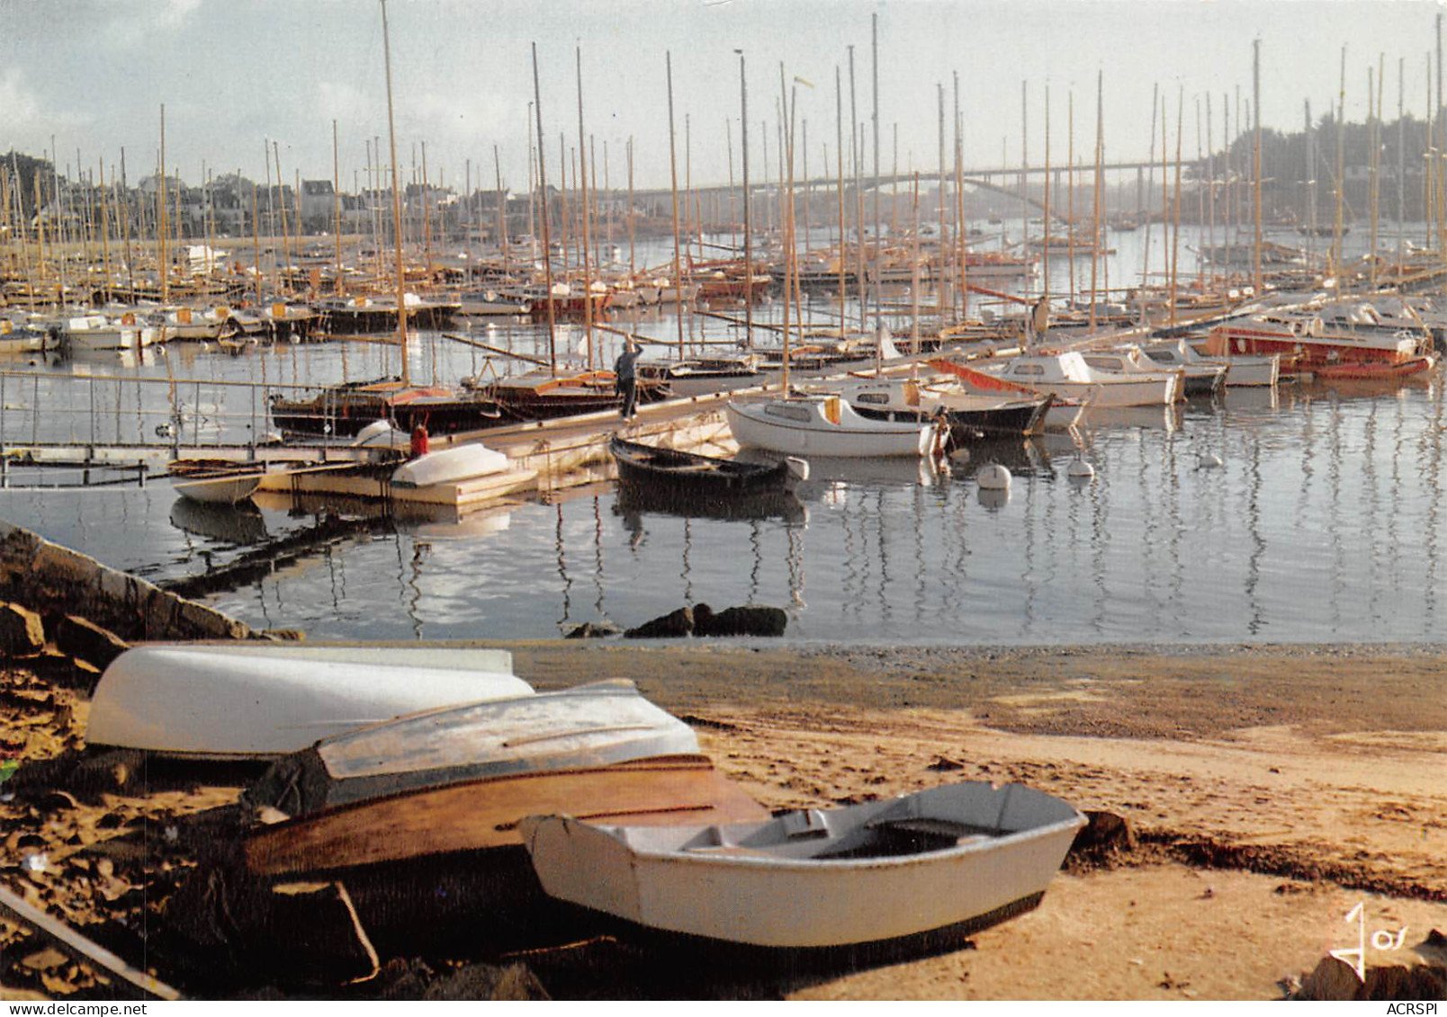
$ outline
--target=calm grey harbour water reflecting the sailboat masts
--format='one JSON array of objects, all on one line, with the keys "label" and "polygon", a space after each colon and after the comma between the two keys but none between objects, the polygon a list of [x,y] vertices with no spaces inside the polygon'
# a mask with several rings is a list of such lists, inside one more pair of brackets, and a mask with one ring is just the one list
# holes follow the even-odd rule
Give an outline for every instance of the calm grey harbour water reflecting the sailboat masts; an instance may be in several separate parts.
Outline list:
[{"label": "calm grey harbour water reflecting the sailboat masts", "polygon": [[[1127,276],[1142,239],[1123,240],[1114,271]],[[677,334],[658,312],[614,324]],[[702,315],[686,330],[721,344],[739,331]],[[546,353],[546,330],[527,323],[469,334]],[[561,336],[576,352],[582,327]],[[509,369],[476,344],[421,339],[414,378]],[[599,334],[601,365],[619,341]],[[204,382],[321,385],[395,373],[396,362],[381,341],[240,356],[172,344],[133,363],[13,369],[33,376],[6,378],[0,440],[129,441],[179,404],[188,440],[245,441],[266,427],[265,405]],[[758,603],[783,608],[787,638],[807,641],[1431,641],[1447,603],[1444,422],[1437,373],[1385,388],[1234,389],[1171,409],[1092,411],[1078,435],[977,444],[939,464],[815,460],[794,498],[742,515],[637,505],[614,485],[462,521],[289,496],[232,509],[181,501],[166,480],[94,486],[106,477],[12,466],[0,518],[158,583],[263,561],[201,599],[317,639],[550,638],[680,605]],[[1075,459],[1092,479],[1068,476]],[[975,483],[985,463],[1011,470],[1009,492]],[[317,529],[323,518],[331,529]],[[294,553],[268,554],[288,537]]]}]

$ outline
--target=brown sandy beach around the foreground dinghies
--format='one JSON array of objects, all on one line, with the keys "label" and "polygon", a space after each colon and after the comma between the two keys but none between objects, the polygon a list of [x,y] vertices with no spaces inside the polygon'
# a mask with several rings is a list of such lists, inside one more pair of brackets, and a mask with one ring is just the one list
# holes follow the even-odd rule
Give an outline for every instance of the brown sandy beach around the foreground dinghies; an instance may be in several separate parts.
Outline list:
[{"label": "brown sandy beach around the foreground dinghies", "polygon": [[[1069,859],[1037,910],[965,949],[855,972],[728,978],[603,965],[598,950],[612,948],[596,945],[522,958],[554,998],[1269,1000],[1327,950],[1356,945],[1357,924],[1344,919],[1357,903],[1367,940],[1405,926],[1399,946],[1369,942],[1369,965],[1421,963],[1430,958],[1411,946],[1447,929],[1437,647],[509,648],[540,690],[635,678],[768,807],[1017,780],[1123,816],[1134,835],[1108,856]],[[35,670],[10,671],[3,696],[6,751],[25,765],[77,748],[87,706]],[[94,800],[16,796],[0,803],[12,830],[0,878],[82,929],[117,914],[156,922],[187,859],[127,868],[93,849],[119,827],[164,825],[234,794],[172,773]],[[43,872],[19,864],[36,846],[49,852]],[[4,922],[0,946],[32,955]],[[10,963],[0,982],[0,998],[103,991],[43,959]]]}]

